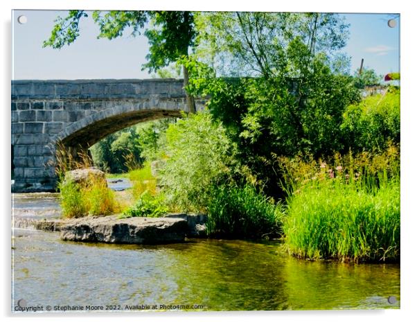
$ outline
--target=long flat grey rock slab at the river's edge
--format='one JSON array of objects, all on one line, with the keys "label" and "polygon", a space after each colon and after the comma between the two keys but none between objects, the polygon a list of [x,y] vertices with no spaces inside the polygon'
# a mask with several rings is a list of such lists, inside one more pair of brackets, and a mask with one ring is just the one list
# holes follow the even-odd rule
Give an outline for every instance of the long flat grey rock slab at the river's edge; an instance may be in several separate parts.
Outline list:
[{"label": "long flat grey rock slab at the river's edge", "polygon": [[65,220],[60,225],[64,241],[103,243],[177,243],[184,241],[188,223],[182,218],[87,217]]}]

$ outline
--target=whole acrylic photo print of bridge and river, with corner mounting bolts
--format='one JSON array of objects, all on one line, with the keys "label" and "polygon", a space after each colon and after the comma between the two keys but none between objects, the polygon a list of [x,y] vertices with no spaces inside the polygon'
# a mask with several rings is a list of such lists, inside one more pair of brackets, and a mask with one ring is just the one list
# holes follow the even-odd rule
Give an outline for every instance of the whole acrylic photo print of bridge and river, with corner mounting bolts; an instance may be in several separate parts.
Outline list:
[{"label": "whole acrylic photo print of bridge and river, with corner mounting bolts", "polygon": [[400,308],[400,15],[12,32],[13,312]]}]

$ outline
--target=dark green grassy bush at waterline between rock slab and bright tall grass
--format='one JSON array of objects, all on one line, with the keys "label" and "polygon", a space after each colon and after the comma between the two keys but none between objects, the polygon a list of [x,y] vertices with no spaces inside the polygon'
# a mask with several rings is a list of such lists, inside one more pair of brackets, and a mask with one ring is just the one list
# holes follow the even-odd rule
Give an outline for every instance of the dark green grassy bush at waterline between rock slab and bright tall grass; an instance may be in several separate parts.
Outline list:
[{"label": "dark green grassy bush at waterline between rock slab and bright tall grass", "polygon": [[207,233],[228,238],[259,238],[281,234],[283,212],[253,186],[213,186],[208,200]]}]

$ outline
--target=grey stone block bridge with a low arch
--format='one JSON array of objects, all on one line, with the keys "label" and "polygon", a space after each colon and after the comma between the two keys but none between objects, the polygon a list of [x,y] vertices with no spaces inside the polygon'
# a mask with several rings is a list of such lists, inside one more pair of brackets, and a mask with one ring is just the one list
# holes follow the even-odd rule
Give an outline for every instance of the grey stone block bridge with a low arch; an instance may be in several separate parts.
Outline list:
[{"label": "grey stone block bridge with a low arch", "polygon": [[[196,100],[197,110],[205,101]],[[54,191],[55,145],[86,149],[142,121],[186,111],[183,80],[13,80],[12,191]]]}]

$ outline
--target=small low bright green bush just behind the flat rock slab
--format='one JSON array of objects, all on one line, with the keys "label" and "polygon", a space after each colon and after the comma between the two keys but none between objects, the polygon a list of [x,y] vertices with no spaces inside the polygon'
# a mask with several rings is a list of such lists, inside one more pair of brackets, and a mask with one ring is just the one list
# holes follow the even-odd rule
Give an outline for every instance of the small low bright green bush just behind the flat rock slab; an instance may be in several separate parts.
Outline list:
[{"label": "small low bright green bush just behind the flat rock slab", "polygon": [[148,191],[141,194],[139,200],[133,207],[127,209],[119,218],[132,218],[132,216],[148,216],[157,218],[168,212],[168,208],[163,204],[163,197],[153,196]]}]

